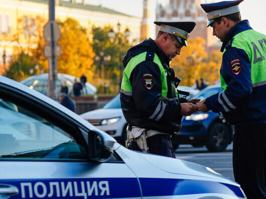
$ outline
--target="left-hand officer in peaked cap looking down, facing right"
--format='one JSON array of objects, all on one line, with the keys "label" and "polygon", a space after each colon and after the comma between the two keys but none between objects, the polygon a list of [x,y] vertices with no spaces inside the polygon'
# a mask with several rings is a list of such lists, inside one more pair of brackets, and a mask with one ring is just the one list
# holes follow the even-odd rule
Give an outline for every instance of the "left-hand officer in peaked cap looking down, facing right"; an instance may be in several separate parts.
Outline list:
[{"label": "left-hand officer in peaked cap looking down, facing right", "polygon": [[194,113],[199,99],[181,104],[175,87],[178,79],[169,62],[187,46],[196,24],[154,23],[160,26],[156,40],[144,40],[123,57],[121,108],[129,123],[131,149],[175,157],[171,135],[180,130],[182,116]]}]

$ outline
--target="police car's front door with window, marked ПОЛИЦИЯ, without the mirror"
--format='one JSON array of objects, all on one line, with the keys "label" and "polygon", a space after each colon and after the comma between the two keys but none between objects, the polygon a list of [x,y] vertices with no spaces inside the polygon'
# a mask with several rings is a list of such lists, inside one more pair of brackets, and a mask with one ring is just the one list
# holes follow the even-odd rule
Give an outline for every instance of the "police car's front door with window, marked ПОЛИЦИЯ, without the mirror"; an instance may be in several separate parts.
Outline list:
[{"label": "police car's front door with window, marked \u041f\u041e\u041b\u0418\u0426\u0418\u042f, without the mirror", "polygon": [[0,83],[0,198],[141,198],[116,153],[89,160],[94,132],[25,90]]}]

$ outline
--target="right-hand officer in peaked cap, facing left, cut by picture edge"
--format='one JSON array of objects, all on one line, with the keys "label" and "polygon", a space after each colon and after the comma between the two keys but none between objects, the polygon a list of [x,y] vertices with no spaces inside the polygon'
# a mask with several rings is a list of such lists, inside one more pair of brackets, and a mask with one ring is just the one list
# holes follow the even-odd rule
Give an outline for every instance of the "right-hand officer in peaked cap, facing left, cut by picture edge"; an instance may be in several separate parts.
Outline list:
[{"label": "right-hand officer in peaked cap, facing left, cut by picture edge", "polygon": [[[266,197],[266,36],[241,21],[240,1],[202,4],[208,26],[222,42],[223,91],[197,104],[222,112],[235,125],[234,178],[248,198]],[[264,20],[264,19],[263,19]]]}]

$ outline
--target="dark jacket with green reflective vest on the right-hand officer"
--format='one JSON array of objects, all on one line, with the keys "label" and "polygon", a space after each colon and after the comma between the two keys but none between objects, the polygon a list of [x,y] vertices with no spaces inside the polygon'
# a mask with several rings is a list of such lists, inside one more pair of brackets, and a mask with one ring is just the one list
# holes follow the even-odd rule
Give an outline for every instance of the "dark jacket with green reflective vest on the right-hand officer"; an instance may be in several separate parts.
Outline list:
[{"label": "dark jacket with green reflective vest on the right-hand officer", "polygon": [[230,124],[266,123],[266,36],[247,20],[230,29],[223,42],[220,69],[223,92],[206,98]]}]

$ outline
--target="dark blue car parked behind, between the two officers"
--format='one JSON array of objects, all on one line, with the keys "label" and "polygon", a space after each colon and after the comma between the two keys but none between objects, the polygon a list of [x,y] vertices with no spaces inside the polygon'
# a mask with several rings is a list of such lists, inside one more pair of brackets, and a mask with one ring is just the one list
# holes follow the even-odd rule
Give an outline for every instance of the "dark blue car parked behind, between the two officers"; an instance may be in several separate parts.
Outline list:
[{"label": "dark blue car parked behind, between the two officers", "polygon": [[[202,100],[221,91],[221,86],[216,84],[204,88],[193,98]],[[181,130],[173,137],[172,142],[174,149],[179,144],[192,144],[195,147],[206,145],[209,151],[224,151],[232,142],[233,132],[233,126],[222,123],[219,114],[212,111],[198,112],[182,118]]]}]

